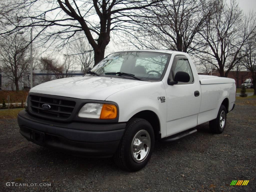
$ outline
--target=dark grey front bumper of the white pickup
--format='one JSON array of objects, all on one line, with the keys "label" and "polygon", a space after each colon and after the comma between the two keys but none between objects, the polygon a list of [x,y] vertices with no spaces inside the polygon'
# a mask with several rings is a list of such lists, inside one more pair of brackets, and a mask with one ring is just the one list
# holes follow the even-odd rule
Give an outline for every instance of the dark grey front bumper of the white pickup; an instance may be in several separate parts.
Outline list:
[{"label": "dark grey front bumper of the white pickup", "polygon": [[59,123],[18,114],[20,133],[31,142],[78,156],[110,157],[122,139],[126,123]]}]

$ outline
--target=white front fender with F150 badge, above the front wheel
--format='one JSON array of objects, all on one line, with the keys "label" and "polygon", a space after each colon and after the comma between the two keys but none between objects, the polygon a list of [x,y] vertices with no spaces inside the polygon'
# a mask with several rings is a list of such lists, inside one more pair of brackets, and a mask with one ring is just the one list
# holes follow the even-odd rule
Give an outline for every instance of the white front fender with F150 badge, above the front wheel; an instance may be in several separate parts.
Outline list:
[{"label": "white front fender with F150 badge, above the front wheel", "polygon": [[119,122],[127,122],[133,115],[144,110],[153,111],[159,119],[162,137],[165,137],[167,105],[163,99],[161,102],[161,97],[166,97],[165,88],[163,82],[158,81],[116,92],[106,100],[119,104]]}]

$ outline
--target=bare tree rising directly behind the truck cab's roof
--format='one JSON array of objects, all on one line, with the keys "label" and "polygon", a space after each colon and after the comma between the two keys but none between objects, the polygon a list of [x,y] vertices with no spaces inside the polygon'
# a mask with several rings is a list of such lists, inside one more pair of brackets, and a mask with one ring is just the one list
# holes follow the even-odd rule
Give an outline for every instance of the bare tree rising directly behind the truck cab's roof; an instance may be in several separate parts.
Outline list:
[{"label": "bare tree rising directly behind the truck cab's roof", "polygon": [[193,43],[205,21],[214,11],[214,2],[207,0],[170,0],[152,7],[141,18],[136,33],[127,33],[126,42],[137,48],[170,49],[191,53]]}]

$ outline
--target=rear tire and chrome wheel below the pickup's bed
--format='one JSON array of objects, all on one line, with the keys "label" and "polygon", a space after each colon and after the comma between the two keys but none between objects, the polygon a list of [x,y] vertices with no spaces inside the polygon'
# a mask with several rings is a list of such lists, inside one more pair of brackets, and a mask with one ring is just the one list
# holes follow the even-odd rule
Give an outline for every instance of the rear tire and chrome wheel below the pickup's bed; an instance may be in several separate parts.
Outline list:
[{"label": "rear tire and chrome wheel below the pickup's bed", "polygon": [[217,118],[209,121],[210,130],[212,133],[220,134],[224,131],[227,121],[227,110],[224,105],[220,105]]}]

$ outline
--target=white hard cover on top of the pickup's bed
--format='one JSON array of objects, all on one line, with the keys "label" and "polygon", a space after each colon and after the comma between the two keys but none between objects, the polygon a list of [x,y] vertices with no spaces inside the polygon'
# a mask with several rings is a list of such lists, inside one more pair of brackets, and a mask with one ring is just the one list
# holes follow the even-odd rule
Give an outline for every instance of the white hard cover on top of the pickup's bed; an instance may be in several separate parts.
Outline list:
[{"label": "white hard cover on top of the pickup's bed", "polygon": [[199,81],[201,85],[204,84],[222,84],[222,83],[234,83],[235,80],[231,78],[225,77],[217,77],[217,76],[210,76],[210,75],[198,75]]}]

